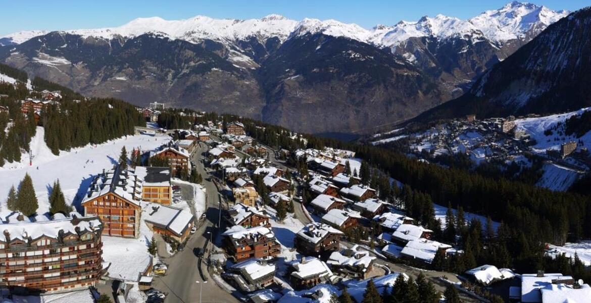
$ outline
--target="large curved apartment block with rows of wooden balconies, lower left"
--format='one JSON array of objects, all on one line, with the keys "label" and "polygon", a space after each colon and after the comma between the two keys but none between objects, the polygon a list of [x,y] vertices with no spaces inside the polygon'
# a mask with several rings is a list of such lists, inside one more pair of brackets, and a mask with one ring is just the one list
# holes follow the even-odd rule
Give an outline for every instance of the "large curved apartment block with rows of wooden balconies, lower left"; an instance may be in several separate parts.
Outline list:
[{"label": "large curved apartment block with rows of wooden balconies, lower left", "polygon": [[0,285],[57,292],[96,284],[105,273],[99,218],[59,215],[2,224]]}]

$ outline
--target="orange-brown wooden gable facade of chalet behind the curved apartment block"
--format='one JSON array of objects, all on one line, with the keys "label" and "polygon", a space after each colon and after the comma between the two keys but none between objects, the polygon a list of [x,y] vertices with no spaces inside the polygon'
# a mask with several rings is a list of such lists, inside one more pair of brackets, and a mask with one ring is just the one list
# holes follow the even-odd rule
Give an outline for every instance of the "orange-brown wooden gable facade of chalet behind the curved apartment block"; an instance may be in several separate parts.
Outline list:
[{"label": "orange-brown wooden gable facade of chalet behind the curved apartment block", "polygon": [[105,236],[139,236],[141,207],[115,193],[106,193],[82,203],[86,215],[99,216]]}]

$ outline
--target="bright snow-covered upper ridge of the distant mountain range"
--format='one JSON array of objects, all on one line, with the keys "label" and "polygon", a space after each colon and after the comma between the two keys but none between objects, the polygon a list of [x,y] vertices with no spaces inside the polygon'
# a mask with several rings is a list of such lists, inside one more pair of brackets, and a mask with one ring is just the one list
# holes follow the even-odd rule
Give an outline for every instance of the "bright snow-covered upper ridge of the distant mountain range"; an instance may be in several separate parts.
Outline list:
[{"label": "bright snow-covered upper ridge of the distant mountain range", "polygon": [[[544,6],[512,2],[501,9],[462,20],[444,15],[423,17],[416,22],[400,21],[393,26],[378,25],[365,29],[356,24],[345,24],[333,19],[320,21],[305,18],[298,22],[281,15],[268,15],[260,19],[214,19],[197,16],[184,20],[165,20],[159,17],[138,18],[120,27],[64,31],[82,37],[137,37],[146,33],[161,34],[169,38],[198,43],[205,39],[232,43],[248,37],[266,41],[277,37],[285,41],[290,35],[322,33],[346,37],[379,47],[395,47],[411,37],[448,38],[469,35],[478,40],[486,37],[495,43],[522,37],[526,32],[545,27],[567,15],[566,11],[552,11]],[[22,31],[1,38],[20,44],[46,31]]]}]

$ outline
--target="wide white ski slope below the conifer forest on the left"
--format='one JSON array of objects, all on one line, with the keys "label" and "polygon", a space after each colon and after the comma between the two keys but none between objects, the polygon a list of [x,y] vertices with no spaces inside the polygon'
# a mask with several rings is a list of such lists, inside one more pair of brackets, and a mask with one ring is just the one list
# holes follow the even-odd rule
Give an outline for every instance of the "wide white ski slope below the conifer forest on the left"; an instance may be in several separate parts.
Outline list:
[{"label": "wide white ski slope below the conifer forest on the left", "polygon": [[32,165],[29,165],[29,156],[23,154],[21,162],[7,163],[0,168],[0,216],[5,217],[9,214],[6,207],[8,191],[11,185],[18,188],[26,172],[33,178],[39,200],[37,212],[43,214],[49,210],[48,191],[57,179],[60,180],[66,202],[71,204],[74,197],[86,192],[94,175],[102,172],[103,168],[108,170],[118,161],[123,146],[131,152],[133,148],[154,149],[170,141],[170,137],[166,135],[134,135],[96,146],[87,145],[69,152],[60,151],[60,155],[57,156],[51,154],[43,136],[44,129],[38,127],[37,133],[31,139]]}]

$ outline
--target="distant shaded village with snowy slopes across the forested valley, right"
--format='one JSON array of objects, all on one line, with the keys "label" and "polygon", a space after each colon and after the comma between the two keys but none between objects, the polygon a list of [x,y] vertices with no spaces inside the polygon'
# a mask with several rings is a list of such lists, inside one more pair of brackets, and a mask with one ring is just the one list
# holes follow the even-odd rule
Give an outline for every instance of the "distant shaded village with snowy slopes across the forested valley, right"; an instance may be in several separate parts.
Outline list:
[{"label": "distant shaded village with snowy slopes across the forested valley, right", "polygon": [[485,164],[508,170],[514,166],[517,174],[539,164],[537,185],[566,191],[587,174],[591,165],[586,136],[566,133],[567,120],[586,110],[517,118],[476,119],[468,115],[445,120],[425,131],[378,133],[369,141],[373,145],[403,146],[408,154],[426,161],[439,162],[446,155],[457,155],[476,167]]}]

